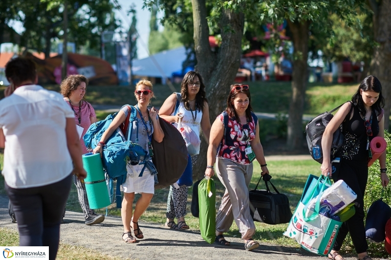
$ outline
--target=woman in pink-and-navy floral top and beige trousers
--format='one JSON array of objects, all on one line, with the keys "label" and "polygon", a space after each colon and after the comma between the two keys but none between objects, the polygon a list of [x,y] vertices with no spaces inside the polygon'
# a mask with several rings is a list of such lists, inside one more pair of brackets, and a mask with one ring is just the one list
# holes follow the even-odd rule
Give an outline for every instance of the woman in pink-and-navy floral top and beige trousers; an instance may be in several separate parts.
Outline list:
[{"label": "woman in pink-and-navy floral top and beige trousers", "polygon": [[256,115],[252,112],[248,85],[231,86],[225,111],[230,134],[224,137],[224,113],[221,113],[212,125],[205,171],[206,176],[212,177],[216,167],[217,177],[225,187],[216,217],[216,242],[230,245],[222,234],[229,231],[235,220],[245,249],[251,251],[259,243],[252,239],[255,225],[250,215],[248,197],[248,185],[253,175],[250,159],[257,158],[261,164],[261,175],[269,174],[269,170],[260,141],[259,123],[255,124],[254,121]]}]

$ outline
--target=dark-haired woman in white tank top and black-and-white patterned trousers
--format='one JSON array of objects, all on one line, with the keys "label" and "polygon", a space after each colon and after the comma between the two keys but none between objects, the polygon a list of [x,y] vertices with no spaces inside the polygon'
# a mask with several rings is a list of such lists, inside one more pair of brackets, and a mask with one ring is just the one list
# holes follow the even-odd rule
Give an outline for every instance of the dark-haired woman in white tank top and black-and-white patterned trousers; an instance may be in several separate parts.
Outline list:
[{"label": "dark-haired woman in white tank top and black-and-white patterned trousers", "polygon": [[[159,115],[167,121],[176,124],[182,118],[181,124],[189,126],[199,136],[200,128],[205,140],[209,141],[211,123],[209,120],[209,107],[206,99],[205,86],[201,75],[195,71],[186,73],[181,84],[181,100],[179,101],[178,112],[174,114],[176,94],[170,95],[160,108]],[[197,156],[192,156],[192,166],[195,166]],[[189,226],[185,222],[188,187],[170,186],[170,193],[167,199],[167,221],[166,226],[172,229],[185,230]],[[174,218],[178,222],[175,224]]]}]

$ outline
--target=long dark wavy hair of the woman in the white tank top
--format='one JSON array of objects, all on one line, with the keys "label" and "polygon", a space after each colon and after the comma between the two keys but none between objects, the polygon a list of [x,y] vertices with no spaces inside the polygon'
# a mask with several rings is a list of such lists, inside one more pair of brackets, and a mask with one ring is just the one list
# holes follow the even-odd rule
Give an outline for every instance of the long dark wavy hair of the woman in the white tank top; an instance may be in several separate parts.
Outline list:
[{"label": "long dark wavy hair of the woman in the white tank top", "polygon": [[185,105],[185,108],[187,110],[190,110],[190,104],[189,104],[189,91],[187,88],[187,84],[189,82],[194,82],[194,78],[198,77],[200,87],[197,95],[195,96],[195,103],[197,104],[198,111],[201,110],[204,111],[204,101],[208,102],[206,99],[206,92],[205,92],[205,85],[202,81],[202,77],[198,72],[195,72],[193,70],[190,70],[186,75],[183,77],[182,84],[180,85],[180,94],[182,95],[182,101]]}]

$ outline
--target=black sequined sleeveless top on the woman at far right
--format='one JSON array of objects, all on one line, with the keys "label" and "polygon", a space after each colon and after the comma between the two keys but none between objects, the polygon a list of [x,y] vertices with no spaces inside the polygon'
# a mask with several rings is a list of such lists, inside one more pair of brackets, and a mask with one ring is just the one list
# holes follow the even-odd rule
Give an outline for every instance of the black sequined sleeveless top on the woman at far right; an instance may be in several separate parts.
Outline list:
[{"label": "black sequined sleeveless top on the woman at far right", "polygon": [[[357,107],[353,107],[353,117],[343,124],[344,145],[337,152],[337,157],[348,160],[368,160],[367,151],[367,129],[364,126],[364,119],[358,112]],[[372,136],[369,136],[369,142],[379,134],[379,123],[377,122],[376,112],[372,110]]]}]

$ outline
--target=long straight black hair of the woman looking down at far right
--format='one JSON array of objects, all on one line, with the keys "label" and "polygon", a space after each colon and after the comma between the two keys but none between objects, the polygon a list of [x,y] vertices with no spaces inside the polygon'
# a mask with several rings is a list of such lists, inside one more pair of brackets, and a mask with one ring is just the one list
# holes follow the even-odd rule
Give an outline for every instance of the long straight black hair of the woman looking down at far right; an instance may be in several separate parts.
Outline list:
[{"label": "long straight black hair of the woman looking down at far right", "polygon": [[358,108],[358,111],[365,115],[367,114],[367,109],[364,106],[363,98],[360,94],[360,89],[365,91],[375,91],[376,93],[379,93],[379,98],[377,101],[372,105],[372,110],[375,110],[376,116],[378,116],[382,108],[384,108],[384,97],[382,95],[382,85],[380,84],[380,81],[375,76],[368,76],[366,77],[360,84],[360,86],[357,89],[357,92],[351,97],[351,102],[353,102],[353,105]]}]

